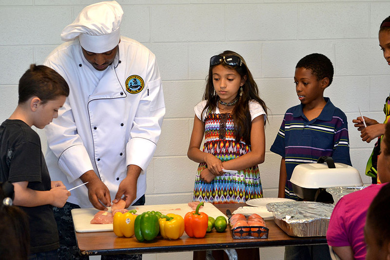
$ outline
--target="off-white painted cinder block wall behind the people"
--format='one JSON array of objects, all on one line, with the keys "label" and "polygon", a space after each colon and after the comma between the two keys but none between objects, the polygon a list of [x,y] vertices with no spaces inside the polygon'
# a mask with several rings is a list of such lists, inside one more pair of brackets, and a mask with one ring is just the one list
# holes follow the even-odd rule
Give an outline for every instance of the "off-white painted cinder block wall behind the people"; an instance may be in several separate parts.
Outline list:
[{"label": "off-white painted cinder block wall behind the people", "polygon": [[[0,0],[0,121],[15,109],[18,81],[29,64],[41,64],[61,43],[63,27],[96,0]],[[333,62],[334,81],[325,91],[348,117],[351,159],[365,183],[373,143],[363,143],[352,119],[384,120],[390,68],[378,46],[378,27],[390,1],[370,0],[118,0],[121,34],[157,56],[166,116],[155,157],[148,167],[147,204],[186,203],[192,198],[197,164],[187,148],[193,107],[201,100],[210,56],[234,50],[247,61],[270,108],[266,159],[260,165],[265,197],[277,195],[280,157],[269,152],[284,112],[299,104],[293,74],[300,58],[322,53]],[[44,131],[37,130],[46,147]],[[282,250],[262,250],[263,259]],[[275,253],[277,257],[275,257]],[[165,259],[170,254],[148,255]],[[179,254],[180,259],[190,254]]]}]

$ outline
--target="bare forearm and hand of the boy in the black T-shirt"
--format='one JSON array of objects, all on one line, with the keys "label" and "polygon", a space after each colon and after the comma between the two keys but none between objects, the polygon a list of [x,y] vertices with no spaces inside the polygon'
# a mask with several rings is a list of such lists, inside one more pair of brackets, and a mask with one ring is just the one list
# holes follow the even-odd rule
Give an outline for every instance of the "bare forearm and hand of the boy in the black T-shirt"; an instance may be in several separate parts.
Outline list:
[{"label": "bare forearm and hand of the boy in the black T-shirt", "polygon": [[28,188],[28,182],[16,182],[13,185],[15,190],[14,204],[17,206],[35,207],[50,204],[63,207],[70,196],[70,192],[66,190],[64,185],[45,191]]}]

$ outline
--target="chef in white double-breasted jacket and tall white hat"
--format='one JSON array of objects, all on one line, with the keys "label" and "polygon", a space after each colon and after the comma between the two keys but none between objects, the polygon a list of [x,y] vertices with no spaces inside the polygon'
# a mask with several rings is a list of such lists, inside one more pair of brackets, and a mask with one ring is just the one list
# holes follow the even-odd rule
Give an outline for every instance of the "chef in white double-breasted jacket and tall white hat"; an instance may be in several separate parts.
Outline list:
[{"label": "chef in white double-breasted jacket and tall white hat", "polygon": [[[120,36],[116,1],[85,7],[66,26],[44,64],[67,81],[70,94],[45,128],[51,178],[69,189],[68,203],[103,210],[144,198],[146,168],[165,114],[155,55]],[[62,214],[62,213],[61,213]]]}]

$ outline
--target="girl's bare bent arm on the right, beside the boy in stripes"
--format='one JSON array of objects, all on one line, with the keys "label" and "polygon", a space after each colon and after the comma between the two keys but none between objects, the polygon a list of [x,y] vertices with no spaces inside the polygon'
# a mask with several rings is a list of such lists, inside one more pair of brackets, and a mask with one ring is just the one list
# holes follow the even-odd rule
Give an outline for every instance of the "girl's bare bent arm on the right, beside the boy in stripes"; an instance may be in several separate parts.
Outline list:
[{"label": "girl's bare bent arm on the right, beside the boy in stripes", "polygon": [[264,115],[252,120],[251,151],[233,160],[223,162],[223,168],[229,170],[243,170],[264,162],[265,158],[265,132]]}]

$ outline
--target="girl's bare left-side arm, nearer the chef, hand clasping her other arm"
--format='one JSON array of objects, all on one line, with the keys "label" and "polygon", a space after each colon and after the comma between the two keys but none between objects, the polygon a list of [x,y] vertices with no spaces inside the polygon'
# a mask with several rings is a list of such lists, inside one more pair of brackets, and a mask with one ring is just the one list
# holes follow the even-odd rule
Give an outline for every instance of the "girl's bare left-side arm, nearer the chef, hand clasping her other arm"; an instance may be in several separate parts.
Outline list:
[{"label": "girl's bare left-side arm, nearer the chef, hand clasping her other arm", "polygon": [[191,134],[190,146],[188,147],[187,156],[197,163],[206,163],[208,169],[214,174],[223,174],[222,162],[213,154],[199,150],[202,144],[204,134],[204,124],[195,115],[194,128]]}]

